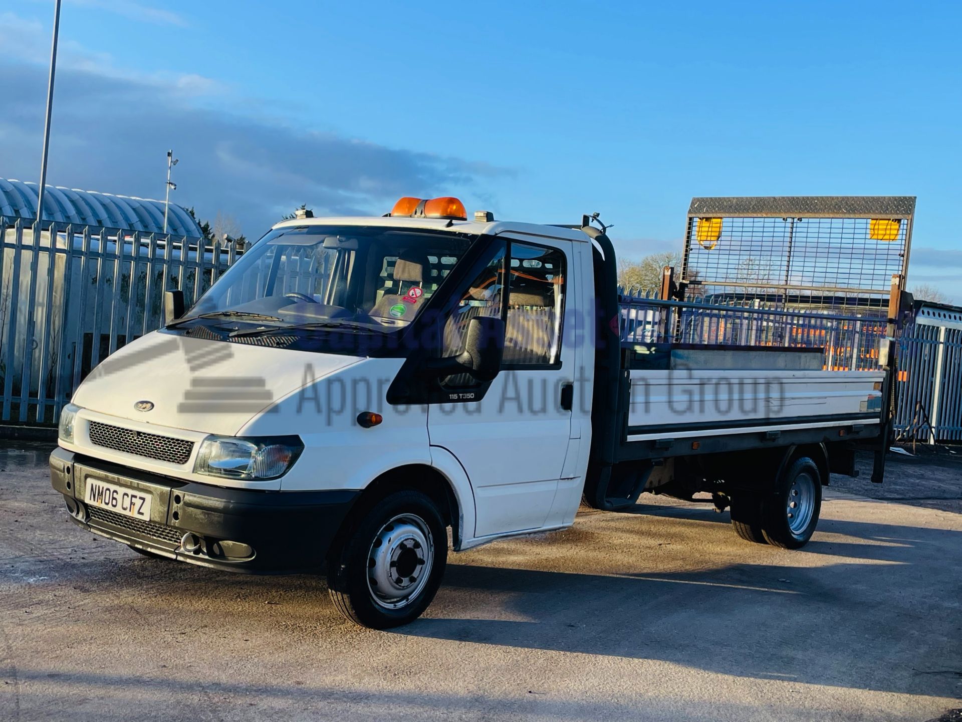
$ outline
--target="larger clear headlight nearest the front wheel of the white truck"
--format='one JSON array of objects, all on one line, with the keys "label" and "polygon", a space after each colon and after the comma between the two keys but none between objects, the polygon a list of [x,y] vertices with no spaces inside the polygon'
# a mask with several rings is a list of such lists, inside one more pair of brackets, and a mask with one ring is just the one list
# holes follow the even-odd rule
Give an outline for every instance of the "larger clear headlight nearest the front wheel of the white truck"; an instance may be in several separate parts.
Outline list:
[{"label": "larger clear headlight nearest the front wheel of the white truck", "polygon": [[193,470],[210,477],[261,480],[282,477],[304,451],[297,436],[208,436]]}]

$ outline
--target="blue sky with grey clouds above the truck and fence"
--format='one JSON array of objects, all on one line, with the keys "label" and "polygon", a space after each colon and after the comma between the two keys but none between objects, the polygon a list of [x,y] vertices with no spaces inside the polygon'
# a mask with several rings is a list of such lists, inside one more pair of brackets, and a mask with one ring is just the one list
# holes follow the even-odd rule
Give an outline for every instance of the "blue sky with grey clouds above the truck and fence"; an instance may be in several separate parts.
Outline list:
[{"label": "blue sky with grey clouds above the truck and fence", "polygon": [[[677,248],[693,195],[919,196],[962,301],[962,5],[64,0],[48,181],[249,236],[293,205],[461,195]],[[52,0],[0,4],[0,177],[38,174]]]}]

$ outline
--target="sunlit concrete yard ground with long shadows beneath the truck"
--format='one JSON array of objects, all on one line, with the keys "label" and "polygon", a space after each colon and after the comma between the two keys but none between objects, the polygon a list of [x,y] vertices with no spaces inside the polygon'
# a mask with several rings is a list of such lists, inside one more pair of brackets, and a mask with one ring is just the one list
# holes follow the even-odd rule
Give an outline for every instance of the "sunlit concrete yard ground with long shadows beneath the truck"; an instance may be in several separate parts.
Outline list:
[{"label": "sunlit concrete yard ground with long shadows beneath the truck", "polygon": [[47,451],[0,449],[3,720],[924,722],[962,707],[948,456],[893,462],[884,493],[900,501],[848,493],[883,494],[868,480],[831,491],[800,552],[738,539],[707,503],[585,511],[453,555],[423,619],[370,632],[321,579],[212,572],[77,529]]}]

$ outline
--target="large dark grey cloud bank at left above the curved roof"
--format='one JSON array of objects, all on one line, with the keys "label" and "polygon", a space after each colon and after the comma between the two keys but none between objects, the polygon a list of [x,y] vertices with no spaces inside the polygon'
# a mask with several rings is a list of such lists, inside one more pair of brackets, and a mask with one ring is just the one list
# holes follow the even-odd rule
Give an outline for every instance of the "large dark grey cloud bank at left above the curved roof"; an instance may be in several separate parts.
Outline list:
[{"label": "large dark grey cloud bank at left above the curved roof", "polygon": [[[45,62],[0,57],[0,132],[16,139],[3,143],[0,177],[36,173],[45,79]],[[197,96],[217,90],[200,76],[120,72],[96,57],[59,65],[49,182],[159,197],[165,152],[174,148],[181,162],[171,200],[204,219],[229,213],[255,235],[279,219],[278,209],[303,202],[318,214],[379,213],[400,195],[484,193],[483,183],[506,172],[198,106]]]}]

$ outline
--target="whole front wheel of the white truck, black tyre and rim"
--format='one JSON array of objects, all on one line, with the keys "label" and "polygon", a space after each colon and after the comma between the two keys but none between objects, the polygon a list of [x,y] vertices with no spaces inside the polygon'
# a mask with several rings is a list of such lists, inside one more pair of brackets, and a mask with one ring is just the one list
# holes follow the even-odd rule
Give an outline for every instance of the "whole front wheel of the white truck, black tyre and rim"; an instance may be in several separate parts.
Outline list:
[{"label": "whole front wheel of the white truck, black tyre and rim", "polygon": [[398,491],[375,503],[331,550],[334,606],[363,627],[412,622],[431,604],[447,564],[447,532],[435,503]]}]

